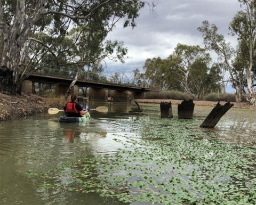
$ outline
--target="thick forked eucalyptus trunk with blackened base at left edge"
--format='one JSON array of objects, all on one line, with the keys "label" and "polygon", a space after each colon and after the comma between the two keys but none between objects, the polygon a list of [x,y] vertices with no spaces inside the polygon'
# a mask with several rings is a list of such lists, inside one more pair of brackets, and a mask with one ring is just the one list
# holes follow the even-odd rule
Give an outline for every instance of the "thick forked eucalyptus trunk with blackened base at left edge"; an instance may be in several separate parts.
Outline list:
[{"label": "thick forked eucalyptus trunk with blackened base at left edge", "polygon": [[[1,1],[2,2],[2,1]],[[11,92],[13,94],[21,94],[22,81],[24,79],[23,72],[26,68],[26,41],[31,31],[31,27],[39,20],[46,6],[45,0],[38,0],[33,15],[26,17],[25,1],[17,0],[16,12],[12,20],[12,24],[7,23],[3,18],[2,5],[0,9],[0,30],[2,31],[3,46],[0,53],[0,67],[5,67],[6,80],[1,79],[1,90]],[[2,69],[3,70],[3,69]]]}]

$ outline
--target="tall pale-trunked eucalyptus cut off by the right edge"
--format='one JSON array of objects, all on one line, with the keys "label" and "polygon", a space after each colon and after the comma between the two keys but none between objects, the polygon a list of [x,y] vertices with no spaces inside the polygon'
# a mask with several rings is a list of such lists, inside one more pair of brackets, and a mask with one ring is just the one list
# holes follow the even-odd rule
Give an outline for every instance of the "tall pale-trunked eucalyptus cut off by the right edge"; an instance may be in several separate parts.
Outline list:
[{"label": "tall pale-trunked eucalyptus cut off by the right edge", "polygon": [[[248,55],[245,63],[245,76],[249,101],[256,105],[256,96],[253,90],[253,65],[256,51],[256,1],[255,0],[238,0],[241,6],[245,6],[243,11],[238,11],[230,23],[231,34],[237,35],[238,40],[246,47],[245,52]],[[242,79],[241,79],[242,80]]]}]

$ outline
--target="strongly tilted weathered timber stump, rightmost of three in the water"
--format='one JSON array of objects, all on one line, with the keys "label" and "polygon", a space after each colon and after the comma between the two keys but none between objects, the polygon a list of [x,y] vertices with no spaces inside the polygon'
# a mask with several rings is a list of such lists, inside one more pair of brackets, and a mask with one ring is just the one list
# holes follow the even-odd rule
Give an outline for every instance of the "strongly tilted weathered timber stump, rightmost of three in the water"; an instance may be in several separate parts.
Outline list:
[{"label": "strongly tilted weathered timber stump, rightmost of three in the water", "polygon": [[220,102],[212,109],[212,111],[205,118],[200,127],[213,128],[217,125],[220,118],[233,107],[234,104],[227,102],[225,105],[220,105]]}]

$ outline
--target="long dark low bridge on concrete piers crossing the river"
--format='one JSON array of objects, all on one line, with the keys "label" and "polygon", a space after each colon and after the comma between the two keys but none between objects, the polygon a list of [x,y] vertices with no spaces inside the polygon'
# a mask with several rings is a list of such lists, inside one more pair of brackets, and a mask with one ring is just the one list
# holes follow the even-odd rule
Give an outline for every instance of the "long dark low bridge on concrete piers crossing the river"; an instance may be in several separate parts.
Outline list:
[{"label": "long dark low bridge on concrete piers crossing the river", "polygon": [[[44,84],[55,84],[55,93],[63,94],[67,92],[67,89],[73,78],[63,77],[57,75],[45,75],[44,73],[33,73],[28,78],[26,78],[23,87],[27,87],[27,91],[30,90],[31,82],[44,83]],[[106,100],[108,98],[108,90],[114,90],[117,93],[125,93],[133,95],[134,97],[143,97],[143,93],[150,91],[150,89],[145,87],[135,87],[135,86],[125,86],[117,85],[113,83],[100,83],[94,80],[77,79],[75,84],[75,90],[73,93],[78,93],[77,87],[87,87],[89,89],[89,99],[94,100]],[[127,95],[126,95],[127,96]]]}]

